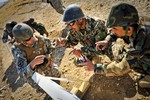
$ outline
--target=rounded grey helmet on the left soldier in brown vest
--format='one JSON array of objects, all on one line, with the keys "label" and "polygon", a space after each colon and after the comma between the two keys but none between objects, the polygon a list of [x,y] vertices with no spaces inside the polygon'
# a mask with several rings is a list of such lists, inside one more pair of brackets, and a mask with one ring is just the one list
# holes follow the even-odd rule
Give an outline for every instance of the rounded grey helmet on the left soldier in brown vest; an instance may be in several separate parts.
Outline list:
[{"label": "rounded grey helmet on the left soldier in brown vest", "polygon": [[18,23],[12,30],[17,42],[23,42],[33,36],[33,29],[24,23]]}]

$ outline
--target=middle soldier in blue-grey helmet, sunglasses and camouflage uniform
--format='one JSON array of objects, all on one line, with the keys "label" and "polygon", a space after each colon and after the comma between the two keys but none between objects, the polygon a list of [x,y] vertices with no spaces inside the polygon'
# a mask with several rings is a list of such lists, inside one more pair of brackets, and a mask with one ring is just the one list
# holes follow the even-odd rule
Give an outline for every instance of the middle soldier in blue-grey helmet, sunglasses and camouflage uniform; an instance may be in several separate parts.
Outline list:
[{"label": "middle soldier in blue-grey helmet, sunglasses and camouflage uniform", "polygon": [[73,53],[76,57],[83,54],[92,60],[98,54],[95,50],[95,43],[103,40],[107,33],[104,21],[95,21],[93,18],[86,17],[79,5],[72,4],[65,9],[63,22],[67,25],[62,33],[65,38],[59,38],[56,44],[72,47],[80,42],[81,49],[74,49]]}]

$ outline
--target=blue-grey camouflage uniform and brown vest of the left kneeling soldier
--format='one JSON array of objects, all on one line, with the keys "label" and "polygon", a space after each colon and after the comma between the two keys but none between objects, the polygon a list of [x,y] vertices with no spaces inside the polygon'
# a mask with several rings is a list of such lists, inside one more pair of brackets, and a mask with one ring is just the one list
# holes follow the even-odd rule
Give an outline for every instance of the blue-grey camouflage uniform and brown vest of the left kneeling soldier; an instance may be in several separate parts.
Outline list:
[{"label": "blue-grey camouflage uniform and brown vest of the left kneeling soldier", "polygon": [[[46,55],[49,59],[49,54],[52,53],[52,47],[50,40],[44,37],[37,37],[37,41],[34,43],[33,47],[26,47],[22,44],[14,44],[12,47],[12,53],[16,61],[16,67],[18,74],[24,78],[29,78],[34,70],[31,69],[30,62],[38,55]],[[49,60],[48,60],[49,61]],[[47,76],[53,76],[53,73],[45,67],[46,64],[37,66],[41,67],[44,74]],[[45,68],[45,69],[44,69]],[[47,72],[48,71],[48,72]],[[42,74],[42,73],[41,73]],[[59,76],[59,75],[58,75]]]}]

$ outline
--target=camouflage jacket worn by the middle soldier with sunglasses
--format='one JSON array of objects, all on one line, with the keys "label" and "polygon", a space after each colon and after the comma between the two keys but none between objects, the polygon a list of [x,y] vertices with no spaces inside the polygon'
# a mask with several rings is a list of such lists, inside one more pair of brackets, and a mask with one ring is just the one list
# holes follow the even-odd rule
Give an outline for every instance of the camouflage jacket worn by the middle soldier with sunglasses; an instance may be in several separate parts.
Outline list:
[{"label": "camouflage jacket worn by the middle soldier with sunglasses", "polygon": [[[102,20],[95,21],[92,18],[86,18],[86,29],[74,31],[69,29],[66,36],[66,47],[75,46],[79,42],[83,46],[81,49],[85,55],[94,55],[95,43],[106,37],[107,28]],[[92,53],[92,54],[91,54]]]}]

